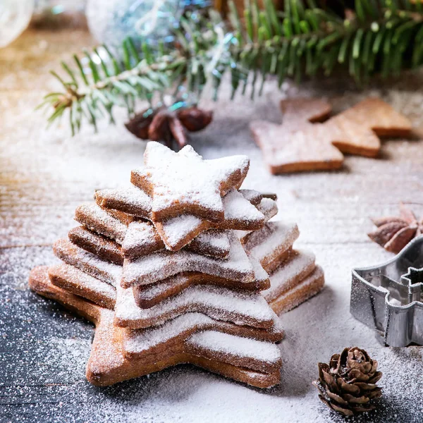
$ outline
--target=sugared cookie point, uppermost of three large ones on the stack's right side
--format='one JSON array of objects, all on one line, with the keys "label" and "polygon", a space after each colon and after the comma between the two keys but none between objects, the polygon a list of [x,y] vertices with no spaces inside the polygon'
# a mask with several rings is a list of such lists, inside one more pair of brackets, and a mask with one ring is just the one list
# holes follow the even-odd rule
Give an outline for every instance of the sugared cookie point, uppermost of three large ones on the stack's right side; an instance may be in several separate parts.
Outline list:
[{"label": "sugared cookie point, uppermost of three large ones on the stack's right side", "polygon": [[263,269],[271,274],[288,258],[291,247],[299,235],[295,223],[269,222],[264,228],[250,234],[245,250],[259,260]]}]

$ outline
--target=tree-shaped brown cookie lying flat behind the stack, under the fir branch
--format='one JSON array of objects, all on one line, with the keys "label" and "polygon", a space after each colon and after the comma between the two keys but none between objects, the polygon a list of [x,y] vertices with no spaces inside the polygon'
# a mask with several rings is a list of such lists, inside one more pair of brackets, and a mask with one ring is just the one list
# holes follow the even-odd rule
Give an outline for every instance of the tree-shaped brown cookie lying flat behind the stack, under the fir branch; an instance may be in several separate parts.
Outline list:
[{"label": "tree-shaped brown cookie lying flat behind the stack, under the fir branch", "polygon": [[[282,125],[253,121],[250,125],[271,173],[340,168],[343,154],[376,157],[379,136],[409,136],[411,123],[381,99],[368,98],[329,118],[328,106],[319,100],[288,99],[281,102],[286,115]],[[329,109],[330,110],[330,109]]]}]

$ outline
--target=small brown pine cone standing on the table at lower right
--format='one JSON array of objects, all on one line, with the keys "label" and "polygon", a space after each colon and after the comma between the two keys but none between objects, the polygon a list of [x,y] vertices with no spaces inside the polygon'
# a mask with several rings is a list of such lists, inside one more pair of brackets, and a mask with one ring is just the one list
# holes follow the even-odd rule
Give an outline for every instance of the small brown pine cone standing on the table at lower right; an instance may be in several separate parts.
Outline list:
[{"label": "small brown pine cone standing on the table at lower right", "polygon": [[376,382],[382,377],[377,362],[360,348],[345,348],[341,355],[334,354],[331,362],[319,363],[319,380],[313,385],[319,389],[319,398],[332,410],[345,416],[374,409],[370,400],[382,395]]}]

